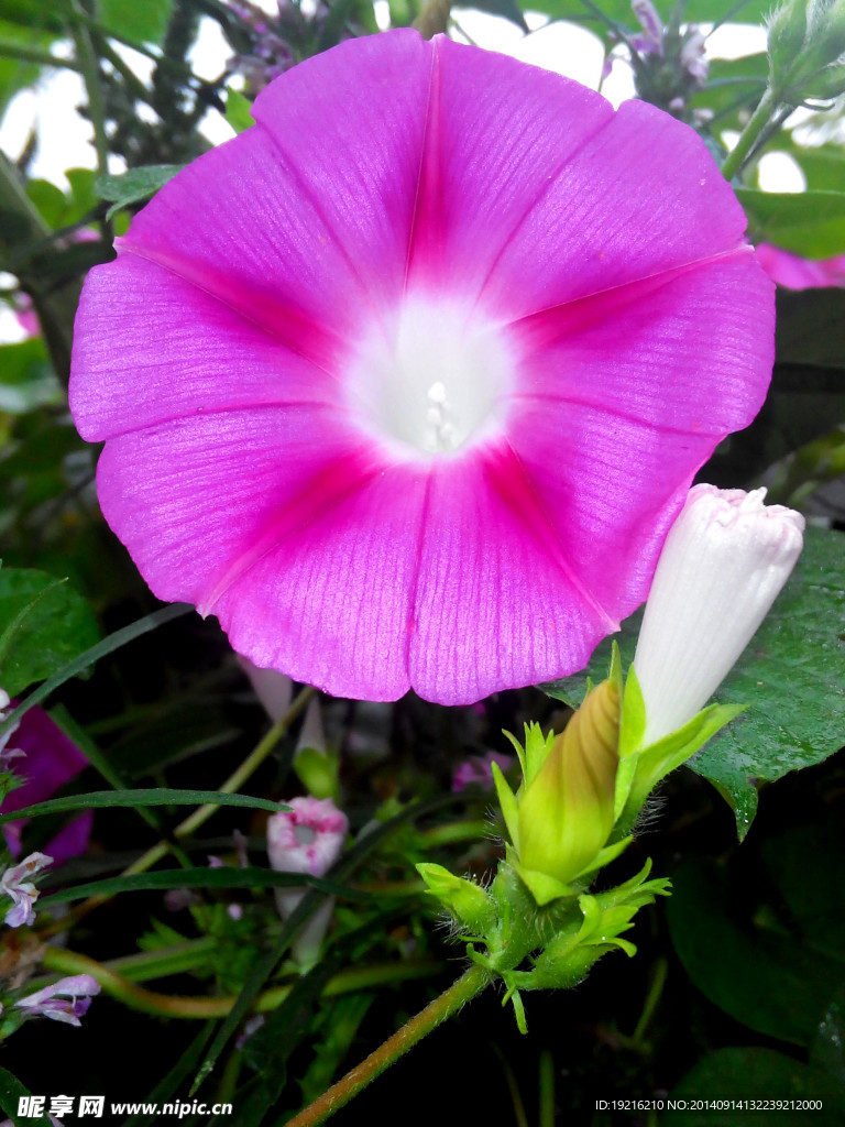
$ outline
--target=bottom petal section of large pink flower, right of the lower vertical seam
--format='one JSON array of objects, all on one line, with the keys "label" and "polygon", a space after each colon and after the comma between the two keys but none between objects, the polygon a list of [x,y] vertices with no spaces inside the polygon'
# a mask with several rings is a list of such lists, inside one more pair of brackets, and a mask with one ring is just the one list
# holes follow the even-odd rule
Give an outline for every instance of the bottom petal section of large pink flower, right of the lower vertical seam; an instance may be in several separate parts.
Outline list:
[{"label": "bottom petal section of large pink flower, right of the lower vertical seam", "polygon": [[464,704],[561,676],[617,628],[507,444],[433,464],[426,527],[410,649],[420,696]]}]

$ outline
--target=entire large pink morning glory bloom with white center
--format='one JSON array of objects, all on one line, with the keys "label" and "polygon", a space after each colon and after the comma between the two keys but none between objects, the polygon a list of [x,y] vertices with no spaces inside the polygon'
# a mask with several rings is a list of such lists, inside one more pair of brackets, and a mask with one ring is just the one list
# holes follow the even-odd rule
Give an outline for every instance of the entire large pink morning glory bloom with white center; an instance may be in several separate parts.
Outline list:
[{"label": "entire large pink morning glory bloom with white center", "polygon": [[71,403],[153,592],[348,696],[581,667],[763,401],[772,283],[692,130],[446,38],[273,82],[95,268]]}]

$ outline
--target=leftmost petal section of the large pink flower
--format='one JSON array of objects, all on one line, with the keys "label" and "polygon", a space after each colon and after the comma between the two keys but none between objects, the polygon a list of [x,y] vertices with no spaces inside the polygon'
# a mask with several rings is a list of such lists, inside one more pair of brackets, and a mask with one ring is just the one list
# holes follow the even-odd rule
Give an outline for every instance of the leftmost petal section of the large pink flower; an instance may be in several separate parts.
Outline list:
[{"label": "leftmost petal section of the large pink flower", "polygon": [[[134,254],[90,272],[79,317],[71,409],[90,442],[210,411],[338,399],[318,364]],[[331,344],[309,352],[326,358]]]}]

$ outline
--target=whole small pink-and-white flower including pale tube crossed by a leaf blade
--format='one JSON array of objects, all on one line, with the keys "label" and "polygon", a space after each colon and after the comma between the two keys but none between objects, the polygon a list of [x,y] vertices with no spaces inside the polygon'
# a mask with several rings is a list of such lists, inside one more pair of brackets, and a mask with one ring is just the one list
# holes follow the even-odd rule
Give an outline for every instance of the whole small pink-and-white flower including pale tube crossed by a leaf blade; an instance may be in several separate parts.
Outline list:
[{"label": "whole small pink-and-white flower including pale tube crossed by a leaf blade", "polygon": [[[274,814],[267,822],[267,855],[277,872],[323,877],[344,850],[349,822],[330,798],[294,798],[291,809]],[[283,919],[295,911],[308,888],[277,888],[276,904]],[[333,897],[311,916],[293,944],[296,961],[311,966],[331,919]]]}]

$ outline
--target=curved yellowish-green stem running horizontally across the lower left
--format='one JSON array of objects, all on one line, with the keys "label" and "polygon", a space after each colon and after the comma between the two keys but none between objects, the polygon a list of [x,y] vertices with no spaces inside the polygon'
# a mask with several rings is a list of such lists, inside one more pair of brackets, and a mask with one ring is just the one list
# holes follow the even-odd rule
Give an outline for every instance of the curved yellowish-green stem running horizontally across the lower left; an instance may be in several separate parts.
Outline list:
[{"label": "curved yellowish-green stem running horizontally across the lower left", "polygon": [[[61,947],[45,948],[42,964],[48,970],[55,970],[63,975],[90,975],[112,997],[116,997],[130,1009],[139,1010],[142,1013],[199,1020],[225,1018],[238,1000],[235,994],[193,997],[144,990],[143,986],[137,986],[124,975],[118,974],[112,966],[97,962],[96,959],[89,959],[87,955],[78,955],[75,951],[68,951]],[[329,978],[322,993],[324,997],[338,997],[341,994],[354,994],[358,991],[372,990],[375,986],[408,982],[413,978],[428,978],[442,969],[443,965],[433,959],[354,967]],[[254,1006],[255,1011],[268,1013],[272,1010],[277,1010],[292,990],[291,983],[270,987],[258,995]]]}]

